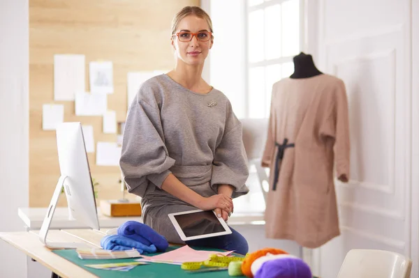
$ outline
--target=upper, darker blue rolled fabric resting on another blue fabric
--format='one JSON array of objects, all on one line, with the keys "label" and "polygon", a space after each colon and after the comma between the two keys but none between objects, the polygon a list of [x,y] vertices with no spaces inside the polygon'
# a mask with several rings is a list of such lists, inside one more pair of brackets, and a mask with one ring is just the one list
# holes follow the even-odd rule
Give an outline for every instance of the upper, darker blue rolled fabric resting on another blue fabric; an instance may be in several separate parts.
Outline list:
[{"label": "upper, darker blue rolled fabric resting on another blue fabric", "polygon": [[154,245],[156,248],[165,252],[169,247],[169,242],[163,235],[160,235],[152,227],[137,221],[127,221],[118,228],[118,235],[124,235],[144,245]]}]

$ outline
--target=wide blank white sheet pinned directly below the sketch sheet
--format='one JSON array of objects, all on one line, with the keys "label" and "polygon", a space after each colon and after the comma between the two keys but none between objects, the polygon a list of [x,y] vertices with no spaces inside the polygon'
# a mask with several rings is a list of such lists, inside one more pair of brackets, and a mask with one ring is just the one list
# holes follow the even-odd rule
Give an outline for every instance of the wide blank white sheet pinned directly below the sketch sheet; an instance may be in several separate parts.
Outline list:
[{"label": "wide blank white sheet pinned directly below the sketch sheet", "polygon": [[108,109],[108,98],[104,93],[75,94],[75,115],[76,116],[103,116]]}]

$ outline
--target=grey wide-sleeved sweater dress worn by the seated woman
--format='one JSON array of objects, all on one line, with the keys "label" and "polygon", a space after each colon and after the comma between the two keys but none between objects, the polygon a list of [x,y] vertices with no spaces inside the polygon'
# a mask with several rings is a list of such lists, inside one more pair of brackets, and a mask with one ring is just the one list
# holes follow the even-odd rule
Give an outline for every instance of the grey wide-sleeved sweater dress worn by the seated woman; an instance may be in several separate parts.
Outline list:
[{"label": "grey wide-sleeved sweater dress worn by the seated woman", "polygon": [[233,185],[249,192],[242,124],[226,95],[190,91],[168,75],[148,79],[128,109],[120,159],[128,192],[142,197],[142,220],[169,242],[184,243],[169,213],[194,210],[161,185],[169,173],[201,196]]}]

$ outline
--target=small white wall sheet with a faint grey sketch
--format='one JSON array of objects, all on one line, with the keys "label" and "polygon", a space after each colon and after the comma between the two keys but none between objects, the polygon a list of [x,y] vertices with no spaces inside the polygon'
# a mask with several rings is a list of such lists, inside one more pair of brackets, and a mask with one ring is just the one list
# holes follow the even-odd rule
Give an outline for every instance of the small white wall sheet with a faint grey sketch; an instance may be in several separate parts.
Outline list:
[{"label": "small white wall sheet with a faint grey sketch", "polygon": [[89,63],[91,93],[113,93],[113,65],[111,61]]}]

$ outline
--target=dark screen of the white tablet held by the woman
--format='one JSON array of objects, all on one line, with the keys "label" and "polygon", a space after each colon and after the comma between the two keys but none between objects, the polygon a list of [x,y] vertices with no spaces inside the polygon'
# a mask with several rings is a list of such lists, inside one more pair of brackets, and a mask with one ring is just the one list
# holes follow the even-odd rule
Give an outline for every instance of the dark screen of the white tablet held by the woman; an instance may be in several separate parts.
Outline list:
[{"label": "dark screen of the white tablet held by the woman", "polygon": [[212,211],[174,215],[186,237],[226,231]]}]

